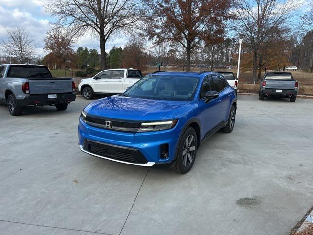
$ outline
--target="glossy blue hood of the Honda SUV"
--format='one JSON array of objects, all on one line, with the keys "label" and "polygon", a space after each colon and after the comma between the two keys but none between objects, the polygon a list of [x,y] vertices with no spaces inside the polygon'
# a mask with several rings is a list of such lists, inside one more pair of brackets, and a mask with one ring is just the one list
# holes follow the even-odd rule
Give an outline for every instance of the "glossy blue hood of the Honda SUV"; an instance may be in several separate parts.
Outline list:
[{"label": "glossy blue hood of the Honda SUV", "polygon": [[84,109],[89,115],[126,119],[126,120],[162,120],[174,109],[186,104],[186,101],[152,100],[114,95],[90,103]]}]

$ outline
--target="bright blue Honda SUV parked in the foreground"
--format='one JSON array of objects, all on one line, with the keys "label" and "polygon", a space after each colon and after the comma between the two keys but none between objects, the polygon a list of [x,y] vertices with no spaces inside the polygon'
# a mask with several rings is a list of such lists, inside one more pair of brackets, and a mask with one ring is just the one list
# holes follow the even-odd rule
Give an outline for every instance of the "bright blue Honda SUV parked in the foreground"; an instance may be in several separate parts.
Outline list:
[{"label": "bright blue Honda SUV parked in the foreground", "polygon": [[215,72],[156,72],[87,105],[80,149],[112,161],[187,173],[201,141],[235,124],[235,90]]}]

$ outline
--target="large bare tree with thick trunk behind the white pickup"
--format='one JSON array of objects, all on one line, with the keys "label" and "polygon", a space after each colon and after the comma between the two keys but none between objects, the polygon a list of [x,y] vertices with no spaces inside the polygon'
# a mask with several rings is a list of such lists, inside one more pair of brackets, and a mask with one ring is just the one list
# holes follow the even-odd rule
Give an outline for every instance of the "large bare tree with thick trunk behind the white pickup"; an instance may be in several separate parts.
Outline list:
[{"label": "large bare tree with thick trunk behind the white pickup", "polygon": [[45,5],[73,36],[94,33],[100,40],[101,68],[106,69],[105,45],[114,33],[132,31],[144,16],[140,0],[55,0]]}]

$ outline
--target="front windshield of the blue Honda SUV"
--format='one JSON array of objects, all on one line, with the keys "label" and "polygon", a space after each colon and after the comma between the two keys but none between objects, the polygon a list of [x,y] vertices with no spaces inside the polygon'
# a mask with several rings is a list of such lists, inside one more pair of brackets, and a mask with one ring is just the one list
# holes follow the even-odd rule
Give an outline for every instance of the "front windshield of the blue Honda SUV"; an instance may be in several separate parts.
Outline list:
[{"label": "front windshield of the blue Honda SUV", "polygon": [[148,75],[122,95],[142,99],[187,101],[192,100],[197,83],[197,77]]}]

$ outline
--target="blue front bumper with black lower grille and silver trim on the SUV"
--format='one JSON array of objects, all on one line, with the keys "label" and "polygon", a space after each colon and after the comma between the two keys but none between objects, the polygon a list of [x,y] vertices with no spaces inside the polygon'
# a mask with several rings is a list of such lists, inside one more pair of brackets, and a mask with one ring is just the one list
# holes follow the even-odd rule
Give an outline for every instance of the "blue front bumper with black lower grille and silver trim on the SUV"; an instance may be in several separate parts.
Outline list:
[{"label": "blue front bumper with black lower grille and silver trim on the SUV", "polygon": [[[178,124],[165,131],[128,133],[93,127],[79,118],[79,148],[92,156],[115,162],[171,168],[175,164],[176,146],[181,131]],[[90,142],[99,144],[101,149],[91,149]],[[168,144],[167,158],[161,157],[162,144]],[[107,146],[114,149],[110,150]],[[138,161],[136,155],[141,155],[145,161]]]}]

